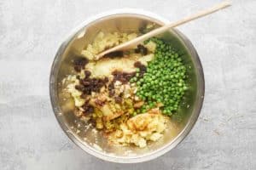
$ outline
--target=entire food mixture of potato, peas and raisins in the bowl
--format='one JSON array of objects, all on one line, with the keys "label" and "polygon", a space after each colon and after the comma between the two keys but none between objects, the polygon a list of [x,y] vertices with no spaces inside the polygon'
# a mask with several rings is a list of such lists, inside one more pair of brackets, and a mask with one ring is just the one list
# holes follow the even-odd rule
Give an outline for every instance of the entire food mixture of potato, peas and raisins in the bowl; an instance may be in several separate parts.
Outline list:
[{"label": "entire food mixture of potato, peas and raisins in the bowl", "polygon": [[75,116],[90,123],[109,144],[146,147],[166,133],[188,89],[187,68],[172,44],[153,37],[125,52],[96,58],[107,48],[139,36],[99,32],[73,59],[76,74],[63,80]]}]

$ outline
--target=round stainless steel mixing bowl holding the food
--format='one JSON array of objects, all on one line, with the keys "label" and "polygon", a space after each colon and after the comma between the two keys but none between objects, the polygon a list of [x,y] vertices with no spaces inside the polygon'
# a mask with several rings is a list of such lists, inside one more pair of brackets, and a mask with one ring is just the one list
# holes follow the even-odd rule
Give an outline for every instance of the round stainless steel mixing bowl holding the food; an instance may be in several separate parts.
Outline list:
[{"label": "round stainless steel mixing bowl holding the food", "polygon": [[[170,30],[160,37],[172,43],[174,48],[183,55],[183,61],[189,68],[189,90],[185,94],[179,113],[184,115],[181,122],[176,123],[177,133],[169,129],[158,142],[149,144],[144,149],[137,147],[120,147],[109,145],[102,135],[95,133],[84,122],[73,115],[72,99],[63,94],[62,80],[73,74],[72,59],[79,55],[81,50],[93,40],[99,31],[138,31],[147,23],[162,26],[167,22],[155,14],[145,11],[122,9],[93,17],[71,32],[62,42],[50,72],[49,94],[56,119],[63,131],[80,148],[106,161],[133,163],[152,160],[172,150],[179,144],[194,126],[200,114],[204,97],[204,76],[200,59],[195,48],[180,31]],[[175,117],[173,118],[175,121]]]}]

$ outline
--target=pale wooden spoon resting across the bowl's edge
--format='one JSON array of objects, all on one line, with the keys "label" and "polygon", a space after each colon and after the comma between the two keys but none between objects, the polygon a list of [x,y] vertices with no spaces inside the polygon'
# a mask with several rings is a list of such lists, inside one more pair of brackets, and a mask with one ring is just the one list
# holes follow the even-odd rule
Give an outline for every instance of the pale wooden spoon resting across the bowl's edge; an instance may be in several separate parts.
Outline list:
[{"label": "pale wooden spoon resting across the bowl's edge", "polygon": [[191,20],[196,20],[196,19],[206,16],[208,14],[215,13],[220,9],[229,7],[230,5],[231,5],[230,1],[224,1],[223,3],[218,3],[218,5],[213,6],[212,8],[207,8],[198,13],[191,14],[190,16],[183,18],[182,20],[177,20],[175,22],[167,24],[166,26],[161,26],[160,28],[154,29],[153,31],[149,31],[148,33],[143,34],[140,37],[136,37],[128,42],[121,43],[118,46],[115,46],[113,48],[109,48],[109,49],[103,51],[102,53],[97,54],[96,59],[100,59],[102,56],[109,54],[109,53],[113,53],[114,51],[121,51],[121,50],[126,50],[129,48],[134,48],[138,44],[147,40],[149,37],[154,37],[154,36],[159,35],[160,33],[163,33],[175,26],[180,26],[180,25],[183,25]]}]

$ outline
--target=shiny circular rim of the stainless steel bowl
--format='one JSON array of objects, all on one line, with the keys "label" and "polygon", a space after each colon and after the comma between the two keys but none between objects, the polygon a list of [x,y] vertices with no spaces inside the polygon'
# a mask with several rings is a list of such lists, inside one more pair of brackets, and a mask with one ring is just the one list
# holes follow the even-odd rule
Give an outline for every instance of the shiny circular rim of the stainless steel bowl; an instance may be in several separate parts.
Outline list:
[{"label": "shiny circular rim of the stainless steel bowl", "polygon": [[59,105],[57,105],[57,102],[56,102],[57,94],[56,94],[56,90],[55,90],[55,88],[56,88],[55,87],[55,85],[56,85],[55,73],[57,70],[55,68],[56,68],[56,65],[58,65],[58,64],[60,65],[60,63],[58,63],[58,58],[65,51],[65,48],[67,48],[68,43],[73,39],[73,37],[75,35],[77,35],[77,33],[81,29],[84,28],[84,26],[87,26],[96,20],[101,20],[103,18],[107,18],[110,16],[119,15],[119,14],[134,14],[134,15],[138,15],[138,16],[140,15],[141,17],[146,17],[149,19],[156,20],[160,24],[163,24],[163,25],[169,22],[169,20],[166,20],[165,18],[161,17],[158,14],[154,14],[152,12],[149,12],[149,11],[146,11],[143,9],[136,9],[136,8],[113,9],[113,10],[110,10],[107,12],[103,12],[101,14],[96,14],[95,16],[92,16],[89,19],[84,20],[79,26],[77,26],[75,29],[73,29],[73,31],[71,31],[71,33],[68,34],[68,36],[64,39],[64,41],[61,42],[61,46],[60,46],[60,48],[58,48],[57,53],[55,54],[55,58],[51,65],[51,70],[50,70],[50,75],[49,75],[50,103],[51,103],[53,112],[55,114],[55,118],[57,119],[57,122],[61,126],[61,129],[64,131],[64,133],[67,134],[67,137],[69,139],[71,139],[74,144],[77,144],[79,146],[79,148],[81,148],[85,152],[89,153],[90,155],[96,156],[97,158],[100,158],[104,161],[113,161],[113,162],[118,162],[118,163],[137,163],[137,162],[143,162],[143,161],[150,161],[159,156],[166,154],[166,152],[175,148],[177,146],[177,144],[179,144],[180,142],[183,141],[183,139],[186,138],[186,136],[189,134],[189,132],[195,126],[195,122],[197,121],[198,116],[201,113],[201,108],[203,105],[203,100],[204,100],[204,95],[205,95],[205,79],[204,79],[203,68],[201,65],[201,60],[200,60],[199,55],[197,54],[193,44],[189,41],[189,39],[187,37],[185,37],[183,35],[182,32],[177,31],[177,29],[174,29],[175,33],[178,33],[178,36],[182,37],[181,41],[183,43],[185,43],[184,40],[186,41],[186,44],[183,44],[183,45],[185,47],[189,46],[189,48],[193,49],[192,52],[194,54],[193,55],[191,54],[191,56],[195,57],[194,60],[196,62],[196,65],[198,65],[195,70],[199,71],[198,77],[201,77],[201,98],[199,101],[199,106],[197,108],[197,111],[195,111],[195,113],[196,113],[195,116],[191,116],[189,118],[189,121],[186,123],[185,127],[183,127],[183,130],[174,139],[172,139],[172,141],[169,144],[166,144],[165,146],[160,147],[159,149],[154,150],[150,153],[143,154],[142,156],[125,157],[125,156],[114,156],[114,155],[105,154],[104,152],[102,152],[100,150],[96,150],[96,149],[90,147],[88,144],[84,144],[84,142],[81,139],[74,136],[73,133],[70,133],[70,130],[67,127],[67,125],[63,121],[61,121],[61,118],[60,118],[61,110],[59,108]]}]

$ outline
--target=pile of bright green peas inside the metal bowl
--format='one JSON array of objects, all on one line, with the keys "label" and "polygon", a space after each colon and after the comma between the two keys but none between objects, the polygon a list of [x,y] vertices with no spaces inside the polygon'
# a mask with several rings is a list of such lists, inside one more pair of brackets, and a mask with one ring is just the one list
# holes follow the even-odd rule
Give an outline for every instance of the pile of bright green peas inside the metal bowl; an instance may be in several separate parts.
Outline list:
[{"label": "pile of bright green peas inside the metal bowl", "polygon": [[137,83],[137,96],[145,101],[145,105],[137,113],[144,113],[157,104],[168,116],[177,112],[178,105],[187,89],[186,67],[183,59],[172,46],[160,38],[150,38],[156,44],[154,59],[148,62],[147,71],[139,78],[139,69],[131,82]]}]

